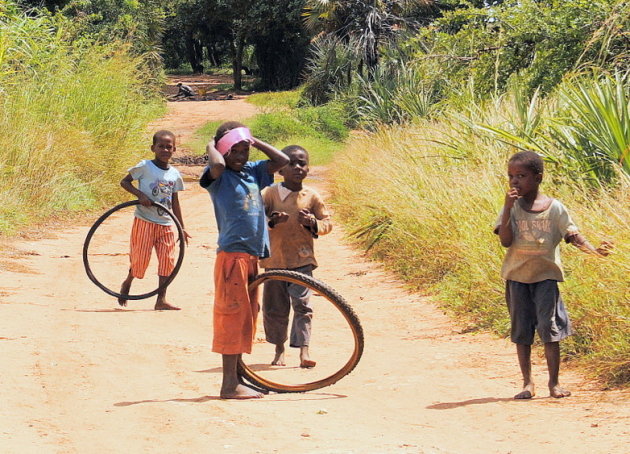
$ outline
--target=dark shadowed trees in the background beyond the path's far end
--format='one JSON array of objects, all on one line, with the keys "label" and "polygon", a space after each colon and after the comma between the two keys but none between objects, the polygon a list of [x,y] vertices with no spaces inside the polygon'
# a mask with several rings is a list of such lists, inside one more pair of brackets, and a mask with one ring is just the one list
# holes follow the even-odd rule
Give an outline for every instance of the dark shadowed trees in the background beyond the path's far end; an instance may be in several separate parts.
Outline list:
[{"label": "dark shadowed trees in the background beyond the path's far end", "polygon": [[204,59],[218,65],[227,58],[240,89],[251,47],[261,88],[292,88],[309,43],[303,5],[304,0],[179,0],[164,35],[166,63],[177,67],[186,56],[193,71],[202,72]]}]

